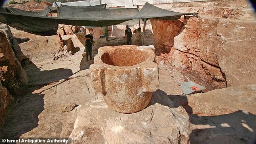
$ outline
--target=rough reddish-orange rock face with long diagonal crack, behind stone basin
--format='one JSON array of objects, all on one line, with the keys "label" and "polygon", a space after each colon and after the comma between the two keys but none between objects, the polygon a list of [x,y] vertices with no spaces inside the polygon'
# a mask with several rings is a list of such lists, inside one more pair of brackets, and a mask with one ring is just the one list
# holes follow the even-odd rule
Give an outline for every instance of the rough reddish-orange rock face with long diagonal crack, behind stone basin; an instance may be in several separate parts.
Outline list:
[{"label": "rough reddish-orange rock face with long diagonal crack, behind stone basin", "polygon": [[[156,47],[168,54],[160,54],[157,63],[160,68],[174,68],[195,81],[207,90],[226,87],[225,75],[222,73],[216,53],[221,48],[220,37],[217,36],[218,21],[211,19],[190,18],[182,28],[182,22],[151,20],[152,25],[174,25],[181,23],[176,29],[153,29]],[[155,26],[155,27],[156,27]],[[160,38],[160,33],[166,33]],[[158,36],[157,36],[158,35]],[[157,49],[156,48],[156,49]],[[163,50],[164,49],[164,50]]]}]

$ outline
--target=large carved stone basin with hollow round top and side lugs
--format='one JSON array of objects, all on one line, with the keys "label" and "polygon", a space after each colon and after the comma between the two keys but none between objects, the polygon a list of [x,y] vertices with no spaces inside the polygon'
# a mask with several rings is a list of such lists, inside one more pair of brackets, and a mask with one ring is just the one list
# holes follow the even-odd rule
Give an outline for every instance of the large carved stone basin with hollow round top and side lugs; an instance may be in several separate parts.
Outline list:
[{"label": "large carved stone basin with hollow round top and side lugs", "polygon": [[108,106],[120,113],[144,109],[159,86],[153,46],[99,48],[90,65],[92,87],[104,94]]}]

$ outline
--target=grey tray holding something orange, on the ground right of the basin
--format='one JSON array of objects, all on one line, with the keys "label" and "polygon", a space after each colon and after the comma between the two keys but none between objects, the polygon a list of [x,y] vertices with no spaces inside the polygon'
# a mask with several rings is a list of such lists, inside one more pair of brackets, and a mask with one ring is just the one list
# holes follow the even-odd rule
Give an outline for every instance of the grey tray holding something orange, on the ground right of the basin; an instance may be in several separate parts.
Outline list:
[{"label": "grey tray holding something orange, on the ground right of the basin", "polygon": [[[173,78],[176,79],[175,77],[173,77]],[[180,82],[178,79],[176,79],[181,86],[181,95],[200,93],[200,92],[202,92],[202,90],[206,89],[205,87],[203,87],[197,83],[194,83],[193,81],[190,81],[188,77],[186,77],[186,78],[187,78],[187,82]]]}]

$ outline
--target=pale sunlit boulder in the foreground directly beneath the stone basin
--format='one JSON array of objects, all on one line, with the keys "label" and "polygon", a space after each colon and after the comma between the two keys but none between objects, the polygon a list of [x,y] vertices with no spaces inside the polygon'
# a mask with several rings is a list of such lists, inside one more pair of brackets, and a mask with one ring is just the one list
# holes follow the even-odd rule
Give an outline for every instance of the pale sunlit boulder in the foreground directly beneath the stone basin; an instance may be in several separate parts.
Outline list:
[{"label": "pale sunlit boulder in the foreground directly beneath the stone basin", "polygon": [[102,97],[97,95],[95,100],[73,112],[77,114],[72,114],[75,119],[71,117],[74,126],[69,137],[74,144],[179,143],[188,140],[189,116],[182,107],[168,108],[151,100],[152,103],[142,111],[122,114],[111,111]]}]

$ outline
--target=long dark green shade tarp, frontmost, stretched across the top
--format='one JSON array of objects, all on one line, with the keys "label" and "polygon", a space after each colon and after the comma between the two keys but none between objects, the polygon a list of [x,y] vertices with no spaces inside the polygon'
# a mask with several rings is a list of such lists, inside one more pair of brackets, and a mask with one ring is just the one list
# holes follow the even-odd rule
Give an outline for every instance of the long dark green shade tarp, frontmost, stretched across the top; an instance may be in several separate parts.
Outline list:
[{"label": "long dark green shade tarp, frontmost, stretched across the top", "polygon": [[146,3],[138,12],[136,8],[58,8],[58,17],[21,15],[0,12],[0,22],[37,35],[57,34],[58,24],[103,27],[117,25],[132,19],[165,19],[176,20],[182,15],[192,13],[176,13]]}]

